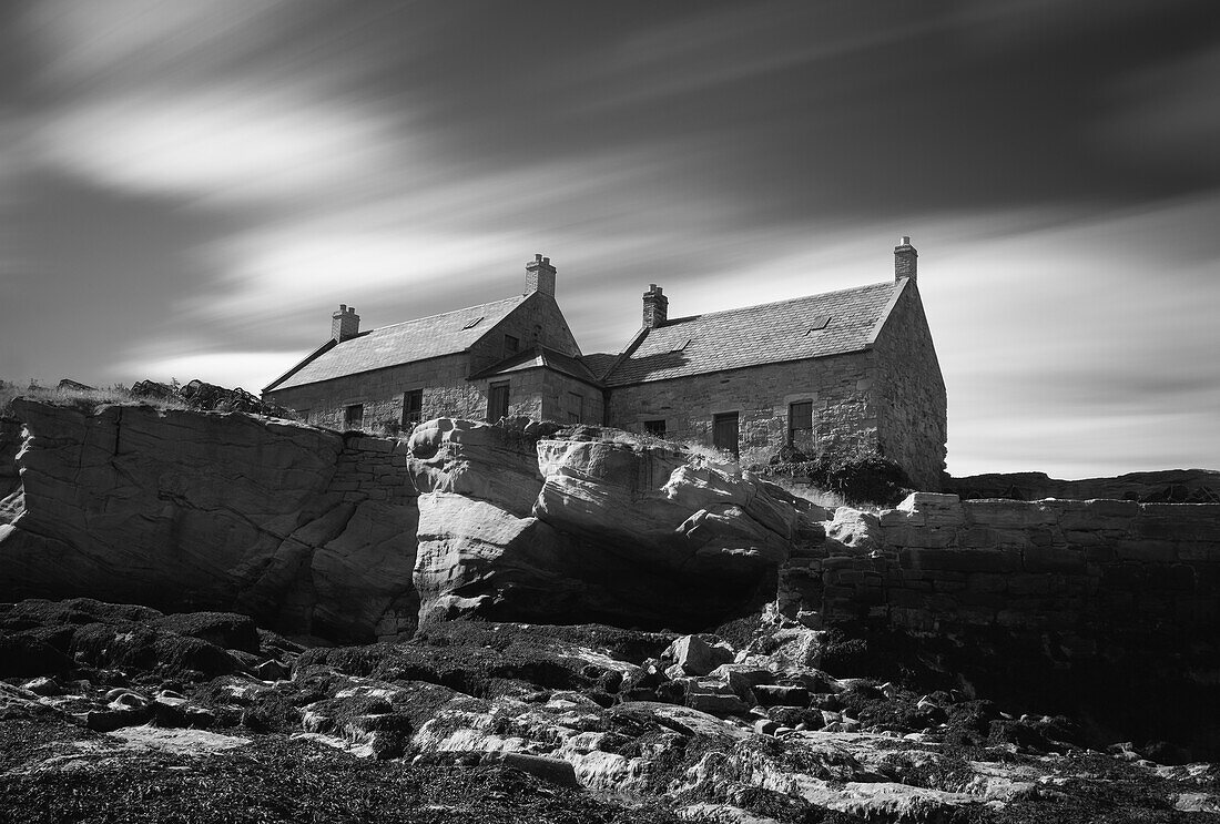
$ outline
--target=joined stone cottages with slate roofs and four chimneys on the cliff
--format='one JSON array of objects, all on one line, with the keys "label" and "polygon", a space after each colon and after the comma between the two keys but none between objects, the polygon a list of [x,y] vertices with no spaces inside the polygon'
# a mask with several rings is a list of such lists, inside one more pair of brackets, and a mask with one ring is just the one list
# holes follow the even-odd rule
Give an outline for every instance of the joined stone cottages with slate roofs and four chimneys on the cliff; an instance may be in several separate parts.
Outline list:
[{"label": "joined stone cottages with slate roofs and four chimneys on the cliff", "polygon": [[605,424],[715,446],[750,461],[876,448],[922,490],[944,468],[944,380],[903,238],[883,283],[670,317],[658,286],[616,355],[582,355],[536,255],[522,294],[331,339],[264,389],[311,422],[409,427],[438,416]]}]

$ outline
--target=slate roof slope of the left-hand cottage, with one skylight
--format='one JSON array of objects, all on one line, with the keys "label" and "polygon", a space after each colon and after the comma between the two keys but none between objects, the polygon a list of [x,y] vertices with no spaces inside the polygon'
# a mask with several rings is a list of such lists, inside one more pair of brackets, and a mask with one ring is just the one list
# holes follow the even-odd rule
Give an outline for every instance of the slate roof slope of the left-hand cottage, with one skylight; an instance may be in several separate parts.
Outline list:
[{"label": "slate roof slope of the left-hand cottage, with one skylight", "polygon": [[[531,295],[518,294],[504,300],[447,311],[371,330],[329,349],[311,355],[295,372],[279,378],[266,391],[329,381],[344,375],[398,366],[426,358],[465,352]],[[471,325],[471,321],[478,320]]]}]

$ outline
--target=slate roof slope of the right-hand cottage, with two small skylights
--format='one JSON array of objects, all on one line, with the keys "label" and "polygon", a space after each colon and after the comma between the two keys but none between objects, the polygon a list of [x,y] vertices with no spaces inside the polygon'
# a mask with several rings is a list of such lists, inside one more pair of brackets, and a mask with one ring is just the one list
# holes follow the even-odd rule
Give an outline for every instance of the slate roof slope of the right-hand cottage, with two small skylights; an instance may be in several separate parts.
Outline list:
[{"label": "slate roof slope of the right-hand cottage, with two small skylights", "polygon": [[[867,348],[905,281],[693,315],[647,330],[606,386],[824,358]],[[822,328],[815,328],[822,325]]]}]

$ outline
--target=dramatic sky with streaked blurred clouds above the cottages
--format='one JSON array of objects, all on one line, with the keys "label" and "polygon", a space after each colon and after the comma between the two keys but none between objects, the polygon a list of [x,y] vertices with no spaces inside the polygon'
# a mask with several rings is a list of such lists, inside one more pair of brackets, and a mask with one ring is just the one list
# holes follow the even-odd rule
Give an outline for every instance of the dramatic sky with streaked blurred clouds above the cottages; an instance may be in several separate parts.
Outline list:
[{"label": "dramatic sky with streaked blurred clouds above the cottages", "polygon": [[257,392],[518,293],[582,349],[893,276],[954,475],[1220,469],[1214,0],[0,5],[0,378]]}]

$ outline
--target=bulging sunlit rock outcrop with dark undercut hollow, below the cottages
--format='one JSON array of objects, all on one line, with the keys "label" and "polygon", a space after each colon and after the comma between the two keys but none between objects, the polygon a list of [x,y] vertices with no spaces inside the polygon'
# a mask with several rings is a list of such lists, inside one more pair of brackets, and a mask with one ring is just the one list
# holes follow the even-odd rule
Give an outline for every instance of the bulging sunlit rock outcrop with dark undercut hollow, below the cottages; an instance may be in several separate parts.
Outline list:
[{"label": "bulging sunlit rock outcrop with dark undercut hollow, below the cottages", "polygon": [[761,607],[793,499],[590,427],[433,421],[411,441],[421,623],[455,616],[705,627]]}]

